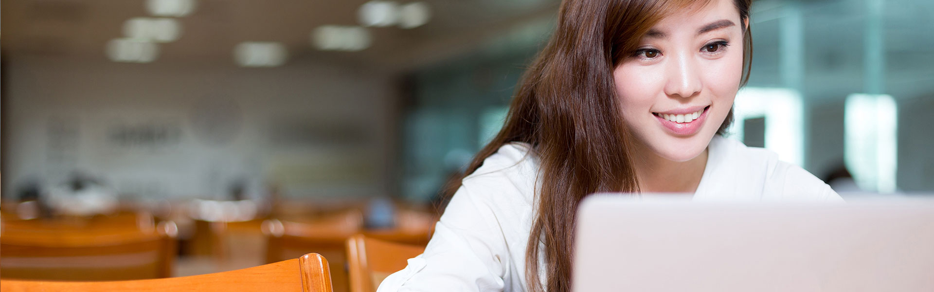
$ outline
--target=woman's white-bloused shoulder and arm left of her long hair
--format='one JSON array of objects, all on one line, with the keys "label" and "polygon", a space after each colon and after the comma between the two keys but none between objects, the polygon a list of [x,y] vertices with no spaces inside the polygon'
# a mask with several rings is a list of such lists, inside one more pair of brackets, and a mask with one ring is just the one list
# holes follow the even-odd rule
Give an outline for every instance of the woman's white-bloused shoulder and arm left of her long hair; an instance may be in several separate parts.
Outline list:
[{"label": "woman's white-bloused shoulder and arm left of her long hair", "polygon": [[425,252],[379,291],[521,290],[537,168],[531,152],[509,143],[489,155],[462,180]]}]

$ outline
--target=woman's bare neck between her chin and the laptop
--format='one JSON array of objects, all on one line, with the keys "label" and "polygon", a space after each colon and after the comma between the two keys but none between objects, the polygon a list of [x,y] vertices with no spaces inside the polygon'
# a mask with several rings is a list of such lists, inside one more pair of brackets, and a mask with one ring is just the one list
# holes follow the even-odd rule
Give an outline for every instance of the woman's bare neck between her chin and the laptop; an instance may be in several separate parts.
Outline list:
[{"label": "woman's bare neck between her chin and the laptop", "polygon": [[640,143],[636,144],[633,163],[641,192],[694,194],[697,191],[703,170],[707,167],[707,148],[697,157],[677,162],[658,156]]}]

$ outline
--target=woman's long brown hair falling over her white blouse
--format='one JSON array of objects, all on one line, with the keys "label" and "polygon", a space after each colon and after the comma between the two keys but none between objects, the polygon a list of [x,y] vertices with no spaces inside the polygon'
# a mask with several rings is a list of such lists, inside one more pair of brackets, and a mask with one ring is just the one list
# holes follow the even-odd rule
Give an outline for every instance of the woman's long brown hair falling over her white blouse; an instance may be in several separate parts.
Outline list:
[{"label": "woman's long brown hair falling over her white blouse", "polygon": [[[709,0],[707,0],[709,2]],[[752,0],[734,0],[748,23]],[[699,3],[700,2],[700,3]],[[623,120],[613,69],[636,51],[639,40],[670,12],[704,5],[694,0],[564,0],[557,28],[526,71],[500,133],[476,154],[447,195],[460,187],[502,145],[531,144],[540,160],[526,280],[531,291],[569,291],[574,215],[578,203],[596,192],[639,192],[630,156],[632,138]],[[743,32],[744,76],[752,37]],[[722,135],[732,110],[721,124]],[[544,245],[540,245],[544,243]],[[543,252],[545,263],[540,262]],[[543,287],[540,270],[545,270]]]}]

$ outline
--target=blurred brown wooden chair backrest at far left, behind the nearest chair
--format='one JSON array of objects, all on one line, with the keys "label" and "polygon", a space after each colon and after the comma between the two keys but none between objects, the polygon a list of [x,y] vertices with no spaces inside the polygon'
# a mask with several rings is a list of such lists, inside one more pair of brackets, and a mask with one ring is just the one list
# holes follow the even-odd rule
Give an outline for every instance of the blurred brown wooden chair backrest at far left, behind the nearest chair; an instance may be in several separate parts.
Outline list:
[{"label": "blurred brown wooden chair backrest at far left, behind the nearest chair", "polygon": [[132,224],[4,225],[0,231],[0,276],[83,281],[170,277],[176,236],[177,226],[171,221],[149,228]]}]

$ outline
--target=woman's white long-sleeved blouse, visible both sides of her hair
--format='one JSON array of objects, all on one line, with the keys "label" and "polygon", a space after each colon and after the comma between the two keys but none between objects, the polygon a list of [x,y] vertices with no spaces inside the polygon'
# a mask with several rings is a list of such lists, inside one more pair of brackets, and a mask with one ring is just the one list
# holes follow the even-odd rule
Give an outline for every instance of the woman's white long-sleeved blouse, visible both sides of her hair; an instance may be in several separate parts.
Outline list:
[{"label": "woman's white long-sleeved blouse, visible both sides of her hair", "polygon": [[[708,150],[695,200],[842,200],[827,183],[769,150],[719,136]],[[538,171],[538,159],[527,153],[527,144],[512,143],[484,160],[451,198],[425,253],[389,275],[377,292],[525,291]]]}]

